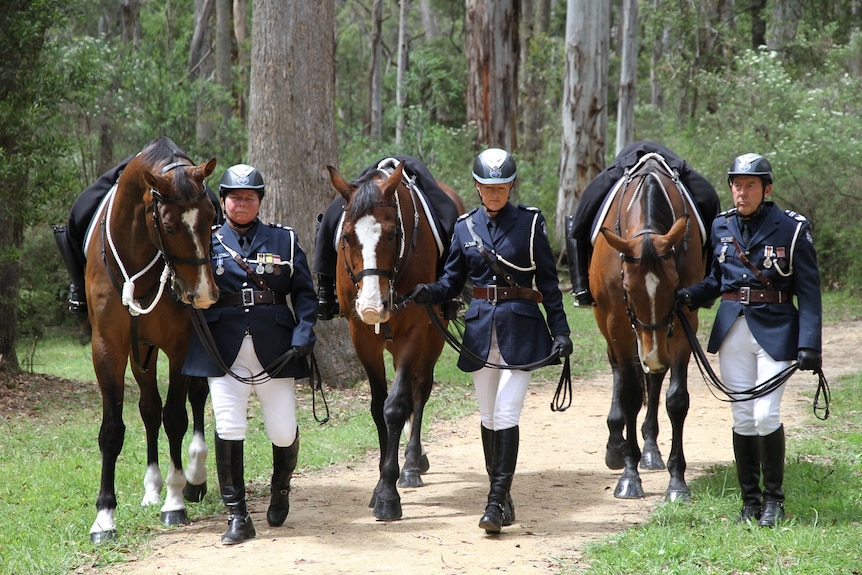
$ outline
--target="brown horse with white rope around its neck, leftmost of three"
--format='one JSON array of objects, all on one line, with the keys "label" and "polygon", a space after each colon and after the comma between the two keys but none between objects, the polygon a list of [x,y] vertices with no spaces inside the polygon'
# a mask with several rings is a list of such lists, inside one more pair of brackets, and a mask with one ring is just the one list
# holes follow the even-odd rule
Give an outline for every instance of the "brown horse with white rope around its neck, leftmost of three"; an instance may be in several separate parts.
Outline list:
[{"label": "brown horse with white rope around its neck, leftmost of three", "polygon": [[[180,370],[193,333],[188,306],[205,309],[218,298],[209,257],[215,208],[204,185],[215,166],[215,159],[195,165],[169,138],[154,140],[123,170],[86,238],[93,367],[102,397],[102,471],[96,519],[90,528],[93,543],[110,541],[117,534],[114,480],[126,429],[123,395],[128,363],[140,388],[138,408],[147,440],[141,505],[161,500],[164,481],[158,435],[162,422],[170,469],[161,521],[187,523],[183,497],[200,501],[206,493],[203,410],[209,390],[204,378],[185,376]],[[172,295],[164,293],[168,281]],[[156,381],[158,350],[169,360],[164,409]],[[187,398],[194,419],[188,480],[182,463],[182,441],[189,423]]]}]

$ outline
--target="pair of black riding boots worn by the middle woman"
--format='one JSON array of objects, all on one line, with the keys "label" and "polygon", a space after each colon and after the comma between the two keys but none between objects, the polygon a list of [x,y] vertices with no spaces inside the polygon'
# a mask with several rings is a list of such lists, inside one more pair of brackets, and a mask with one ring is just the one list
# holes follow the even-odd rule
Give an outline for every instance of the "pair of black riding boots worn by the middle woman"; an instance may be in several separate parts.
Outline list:
[{"label": "pair of black riding boots worn by the middle woman", "polygon": [[[487,433],[484,428],[483,433]],[[512,488],[512,478],[515,476],[515,466],[518,462],[520,430],[516,425],[492,433],[494,434],[494,459],[490,473],[491,489],[488,492],[485,514],[479,520],[479,527],[488,533],[499,533],[504,525],[511,525],[515,520],[515,507],[509,491]]]}]

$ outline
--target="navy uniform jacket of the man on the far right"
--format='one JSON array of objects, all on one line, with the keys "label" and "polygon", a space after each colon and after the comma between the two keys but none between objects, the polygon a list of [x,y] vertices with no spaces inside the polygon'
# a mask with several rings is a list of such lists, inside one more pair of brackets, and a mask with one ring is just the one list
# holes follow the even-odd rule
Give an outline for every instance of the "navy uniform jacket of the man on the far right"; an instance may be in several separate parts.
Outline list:
[{"label": "navy uniform jacket of the man on the far right", "polygon": [[821,351],[820,272],[808,220],[772,202],[766,202],[755,219],[758,225],[745,245],[735,208],[716,217],[712,225],[712,269],[706,279],[689,288],[691,305],[708,305],[722,293],[742,287],[766,289],[739,259],[733,243],[737,238],[751,263],[772,281],[776,290],[794,294],[799,308],[792,301],[745,305],[721,300],[707,351],[718,351],[740,314],[745,315],[757,343],[776,361],[796,359],[803,347]]}]

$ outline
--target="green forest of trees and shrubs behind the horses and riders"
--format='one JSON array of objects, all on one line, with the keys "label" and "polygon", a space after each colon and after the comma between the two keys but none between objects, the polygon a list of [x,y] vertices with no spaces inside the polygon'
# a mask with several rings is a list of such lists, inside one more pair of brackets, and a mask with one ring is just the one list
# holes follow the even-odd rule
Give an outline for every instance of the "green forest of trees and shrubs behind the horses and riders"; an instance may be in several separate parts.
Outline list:
[{"label": "green forest of trees and shrubs behind the horses and riders", "polygon": [[[51,224],[159,135],[218,158],[213,187],[232,164],[260,168],[265,219],[308,250],[327,164],[352,177],[414,155],[474,206],[474,155],[504,147],[561,262],[563,216],[626,143],[667,145],[725,207],[727,167],[753,151],[774,199],[811,221],[824,289],[862,285],[859,0],[2,4],[0,376],[72,325]],[[325,378],[360,378],[337,353],[344,322],[318,329],[336,352]]]}]

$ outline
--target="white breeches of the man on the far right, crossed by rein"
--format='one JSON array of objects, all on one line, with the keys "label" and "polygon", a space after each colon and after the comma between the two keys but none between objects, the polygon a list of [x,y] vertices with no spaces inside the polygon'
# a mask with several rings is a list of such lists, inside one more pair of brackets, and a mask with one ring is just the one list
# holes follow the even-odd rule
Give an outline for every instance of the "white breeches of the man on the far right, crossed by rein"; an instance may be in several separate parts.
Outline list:
[{"label": "white breeches of the man on the far right, crossed by rein", "polygon": [[[721,379],[732,391],[751,389],[787,368],[757,343],[743,316],[727,332],[718,350]],[[739,435],[766,436],[781,426],[781,398],[786,383],[765,397],[731,403],[733,430]]]}]

